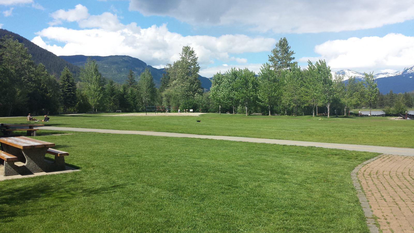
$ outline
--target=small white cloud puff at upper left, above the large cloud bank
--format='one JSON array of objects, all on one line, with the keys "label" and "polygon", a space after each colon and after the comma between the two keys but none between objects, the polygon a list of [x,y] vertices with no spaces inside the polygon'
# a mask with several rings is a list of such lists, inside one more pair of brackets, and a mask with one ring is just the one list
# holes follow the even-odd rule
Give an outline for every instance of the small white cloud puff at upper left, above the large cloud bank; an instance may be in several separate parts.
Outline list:
[{"label": "small white cloud puff at upper left, above the large cloud bank", "polygon": [[68,22],[80,21],[82,19],[87,19],[89,17],[88,8],[78,4],[75,6],[75,9],[70,10],[57,10],[51,14],[54,21],[50,22],[50,25],[56,25],[62,23],[62,20]]}]

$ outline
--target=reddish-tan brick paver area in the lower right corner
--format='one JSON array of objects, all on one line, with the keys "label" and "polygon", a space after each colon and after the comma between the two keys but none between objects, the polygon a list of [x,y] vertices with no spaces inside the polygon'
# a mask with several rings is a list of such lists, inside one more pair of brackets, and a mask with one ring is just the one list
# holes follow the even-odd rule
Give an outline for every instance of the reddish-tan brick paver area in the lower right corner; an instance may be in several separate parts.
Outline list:
[{"label": "reddish-tan brick paver area in the lower right corner", "polygon": [[383,233],[414,233],[414,157],[383,155],[358,178]]}]

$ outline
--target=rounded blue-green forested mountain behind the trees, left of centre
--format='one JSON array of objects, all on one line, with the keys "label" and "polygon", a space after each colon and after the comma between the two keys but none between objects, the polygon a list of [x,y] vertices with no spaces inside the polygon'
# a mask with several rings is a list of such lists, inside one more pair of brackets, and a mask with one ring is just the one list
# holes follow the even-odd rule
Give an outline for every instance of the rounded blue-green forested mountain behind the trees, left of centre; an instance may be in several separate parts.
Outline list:
[{"label": "rounded blue-green forested mountain behind the trees, left of centre", "polygon": [[[87,58],[96,60],[98,64],[98,69],[101,74],[108,79],[112,79],[116,83],[124,83],[129,74],[129,70],[132,70],[135,73],[135,77],[139,77],[141,73],[148,68],[154,78],[154,83],[156,87],[159,87],[161,84],[162,74],[165,73],[163,69],[157,69],[152,66],[147,65],[147,63],[141,61],[138,58],[133,58],[126,55],[113,55],[113,56],[84,56],[84,55],[73,55],[73,56],[59,56],[65,61],[68,61],[77,66],[84,66],[87,61]],[[200,79],[201,86],[210,89],[211,81],[208,78],[198,75]]]}]

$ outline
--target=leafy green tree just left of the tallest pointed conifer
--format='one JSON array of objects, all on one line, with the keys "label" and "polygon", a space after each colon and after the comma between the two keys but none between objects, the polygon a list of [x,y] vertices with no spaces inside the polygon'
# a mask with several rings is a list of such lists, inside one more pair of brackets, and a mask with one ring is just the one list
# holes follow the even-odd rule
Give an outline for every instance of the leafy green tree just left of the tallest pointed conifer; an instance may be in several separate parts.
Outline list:
[{"label": "leafy green tree just left of the tallest pointed conifer", "polygon": [[272,66],[269,63],[263,64],[258,76],[258,97],[260,102],[267,106],[269,116],[270,109],[279,100],[279,88],[279,78],[274,73]]}]

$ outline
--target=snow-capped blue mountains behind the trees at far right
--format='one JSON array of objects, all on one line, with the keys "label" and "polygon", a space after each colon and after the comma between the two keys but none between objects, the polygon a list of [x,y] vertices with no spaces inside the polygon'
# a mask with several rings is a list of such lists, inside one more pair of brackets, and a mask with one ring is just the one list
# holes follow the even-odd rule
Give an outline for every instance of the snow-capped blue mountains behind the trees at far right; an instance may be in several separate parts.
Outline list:
[{"label": "snow-capped blue mountains behind the trees at far right", "polygon": [[[331,72],[332,76],[344,75],[344,80],[355,76],[358,80],[363,80],[364,74],[353,70],[339,70]],[[373,75],[378,85],[378,90],[382,94],[387,94],[392,90],[394,93],[404,93],[414,91],[414,66],[405,68],[395,73],[378,73]]]}]

